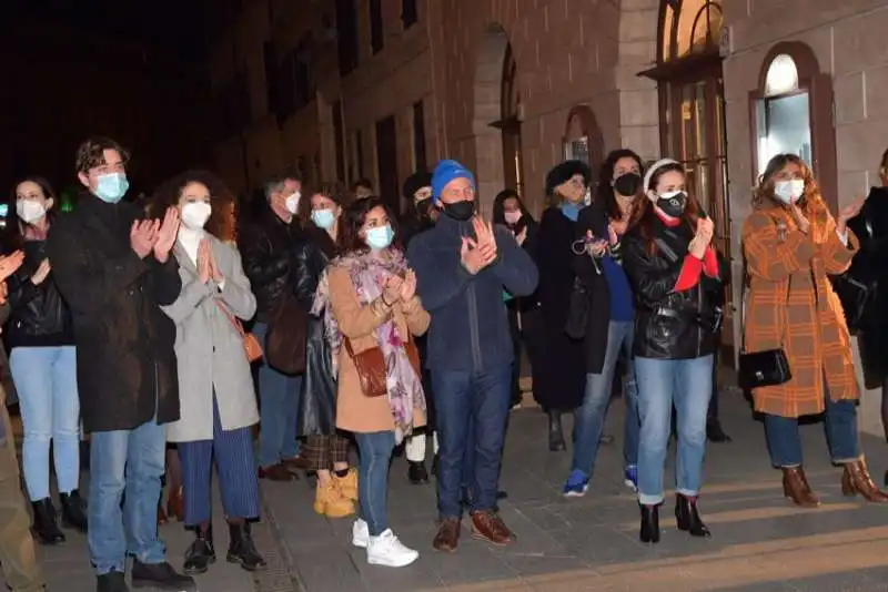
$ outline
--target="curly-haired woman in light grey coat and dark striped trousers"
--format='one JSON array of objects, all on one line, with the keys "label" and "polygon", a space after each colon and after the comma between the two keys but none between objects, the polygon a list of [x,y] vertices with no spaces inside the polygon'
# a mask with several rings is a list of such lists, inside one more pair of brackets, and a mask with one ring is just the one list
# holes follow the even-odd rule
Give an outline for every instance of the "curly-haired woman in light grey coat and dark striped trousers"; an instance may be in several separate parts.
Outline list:
[{"label": "curly-haired woman in light grey coat and dark striped trousers", "polygon": [[195,532],[185,553],[186,573],[203,573],[215,561],[213,459],[229,523],[228,561],[248,571],[265,568],[250,530],[260,516],[251,430],[259,412],[241,326],[256,302],[238,251],[219,238],[231,200],[222,182],[202,171],[169,181],[152,200],[157,212],[179,208],[182,221],[173,247],[182,292],[163,310],[176,327],[181,407],[167,433],[182,462],[185,527]]}]

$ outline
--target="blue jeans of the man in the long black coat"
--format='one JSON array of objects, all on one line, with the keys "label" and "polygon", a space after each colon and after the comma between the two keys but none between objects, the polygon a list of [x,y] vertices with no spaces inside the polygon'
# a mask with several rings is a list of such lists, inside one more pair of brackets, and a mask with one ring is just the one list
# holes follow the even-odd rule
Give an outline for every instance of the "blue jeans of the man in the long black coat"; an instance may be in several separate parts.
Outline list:
[{"label": "blue jeans of the man in the long black coat", "polygon": [[100,575],[122,573],[128,551],[142,563],[164,561],[158,501],[165,453],[167,430],[154,420],[134,430],[92,433],[88,540]]}]

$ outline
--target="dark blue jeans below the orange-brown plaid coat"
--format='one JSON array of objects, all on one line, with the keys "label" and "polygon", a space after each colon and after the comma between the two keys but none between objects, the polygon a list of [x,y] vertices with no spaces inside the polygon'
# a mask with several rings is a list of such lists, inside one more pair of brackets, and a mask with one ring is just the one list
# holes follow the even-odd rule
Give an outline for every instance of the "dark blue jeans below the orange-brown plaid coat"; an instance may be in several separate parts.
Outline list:
[{"label": "dark blue jeans below the orange-brown plaid coat", "polygon": [[[855,401],[834,401],[827,392],[824,423],[826,442],[829,447],[829,457],[833,462],[844,465],[860,458]],[[765,438],[768,442],[768,452],[770,453],[773,466],[779,468],[801,466],[801,439],[798,433],[798,418],[765,414]]]}]

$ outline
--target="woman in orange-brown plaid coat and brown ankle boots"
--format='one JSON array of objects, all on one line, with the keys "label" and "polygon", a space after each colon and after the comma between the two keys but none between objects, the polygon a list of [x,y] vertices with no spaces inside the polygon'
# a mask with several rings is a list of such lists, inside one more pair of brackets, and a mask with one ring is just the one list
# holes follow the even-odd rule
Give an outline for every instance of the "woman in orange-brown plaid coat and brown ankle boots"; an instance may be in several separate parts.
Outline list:
[{"label": "woman in orange-brown plaid coat and brown ankle boots", "polygon": [[803,470],[798,418],[826,414],[833,462],[842,465],[842,492],[888,502],[869,477],[857,432],[860,391],[841,305],[828,275],[844,273],[858,249],[847,227],[860,203],[834,220],[808,166],[794,154],[770,160],[753,197],[743,231],[749,275],[746,351],[783,348],[793,378],[753,390],[765,414],[771,463],[783,470],[784,493],[815,507]]}]

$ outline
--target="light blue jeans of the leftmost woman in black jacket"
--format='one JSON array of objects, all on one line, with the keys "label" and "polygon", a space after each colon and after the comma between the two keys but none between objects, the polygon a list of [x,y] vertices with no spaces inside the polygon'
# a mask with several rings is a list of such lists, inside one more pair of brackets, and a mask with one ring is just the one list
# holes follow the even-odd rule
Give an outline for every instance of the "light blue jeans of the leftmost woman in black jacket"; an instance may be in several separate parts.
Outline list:
[{"label": "light blue jeans of the leftmost woman in black jacket", "polygon": [[17,347],[9,368],[24,428],[22,466],[31,501],[49,498],[49,449],[59,491],[78,489],[80,479],[80,399],[74,346]]}]

